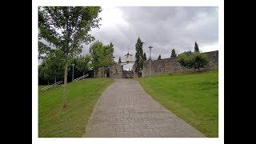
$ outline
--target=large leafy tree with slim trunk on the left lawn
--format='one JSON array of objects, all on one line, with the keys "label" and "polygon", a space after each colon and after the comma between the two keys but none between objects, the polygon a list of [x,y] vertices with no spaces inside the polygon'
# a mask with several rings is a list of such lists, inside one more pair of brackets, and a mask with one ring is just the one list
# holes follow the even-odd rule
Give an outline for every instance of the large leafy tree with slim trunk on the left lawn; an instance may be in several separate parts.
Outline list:
[{"label": "large leafy tree with slim trunk on the left lawn", "polygon": [[94,37],[88,32],[99,28],[98,6],[43,6],[38,8],[38,36],[56,49],[62,50],[65,59],[64,105],[66,107],[66,80],[68,61],[82,52],[82,43],[89,44]]}]

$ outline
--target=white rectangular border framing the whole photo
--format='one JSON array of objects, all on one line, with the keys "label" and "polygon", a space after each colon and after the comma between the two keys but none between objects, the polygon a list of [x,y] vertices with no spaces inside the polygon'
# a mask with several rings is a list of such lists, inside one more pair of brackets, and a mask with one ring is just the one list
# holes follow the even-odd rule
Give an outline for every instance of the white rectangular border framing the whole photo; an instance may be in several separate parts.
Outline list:
[{"label": "white rectangular border framing the whole photo", "polygon": [[[38,138],[38,6],[218,6],[218,138]],[[224,0],[33,0],[32,94],[34,143],[224,143]]]}]

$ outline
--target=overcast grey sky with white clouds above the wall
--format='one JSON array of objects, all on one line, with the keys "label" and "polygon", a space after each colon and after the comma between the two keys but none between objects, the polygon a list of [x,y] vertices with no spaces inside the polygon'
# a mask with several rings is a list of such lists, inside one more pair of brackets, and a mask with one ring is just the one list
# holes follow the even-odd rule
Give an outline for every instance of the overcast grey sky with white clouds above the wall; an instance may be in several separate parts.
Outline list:
[{"label": "overcast grey sky with white clouds above the wall", "polygon": [[[128,50],[135,55],[135,44],[141,38],[143,52],[149,58],[149,46],[152,59],[170,58],[172,49],[177,54],[186,50],[194,51],[194,42],[202,52],[218,50],[218,7],[213,6],[102,6],[99,14],[102,18],[100,29],[93,29],[96,40],[108,44],[114,43],[115,61]],[[89,51],[84,46],[83,53]],[[130,66],[125,66],[127,69]]]}]

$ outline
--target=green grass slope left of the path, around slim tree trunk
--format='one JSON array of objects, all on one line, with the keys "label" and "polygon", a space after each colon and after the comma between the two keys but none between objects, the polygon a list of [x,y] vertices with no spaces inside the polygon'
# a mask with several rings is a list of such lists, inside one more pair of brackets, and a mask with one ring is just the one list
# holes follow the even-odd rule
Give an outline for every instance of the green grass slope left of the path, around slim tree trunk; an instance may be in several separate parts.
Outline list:
[{"label": "green grass slope left of the path, around slim tree trunk", "polygon": [[66,108],[63,87],[41,91],[38,86],[38,137],[82,137],[95,103],[112,82],[114,79],[91,78],[69,83]]}]

